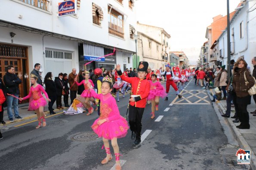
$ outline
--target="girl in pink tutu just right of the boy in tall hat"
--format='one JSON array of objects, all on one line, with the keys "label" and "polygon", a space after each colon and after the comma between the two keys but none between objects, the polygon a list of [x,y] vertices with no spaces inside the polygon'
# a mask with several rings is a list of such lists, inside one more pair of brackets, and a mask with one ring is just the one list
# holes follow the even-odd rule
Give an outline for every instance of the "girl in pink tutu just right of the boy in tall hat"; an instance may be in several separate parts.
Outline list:
[{"label": "girl in pink tutu just right of the boy in tall hat", "polygon": [[147,99],[151,100],[151,119],[154,119],[154,112],[155,110],[158,110],[159,98],[165,98],[167,93],[160,82],[157,81],[157,75],[151,75],[151,81],[149,81],[149,83],[150,91]]}]

